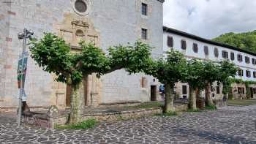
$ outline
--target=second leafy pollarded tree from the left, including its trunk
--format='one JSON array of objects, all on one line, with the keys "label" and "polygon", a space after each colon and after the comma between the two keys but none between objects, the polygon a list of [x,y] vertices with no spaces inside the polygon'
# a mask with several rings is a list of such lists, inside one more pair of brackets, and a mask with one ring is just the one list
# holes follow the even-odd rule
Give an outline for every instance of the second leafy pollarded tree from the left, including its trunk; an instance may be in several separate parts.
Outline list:
[{"label": "second leafy pollarded tree from the left, including its trunk", "polygon": [[148,67],[144,67],[147,75],[157,77],[159,82],[165,84],[165,107],[164,113],[172,113],[175,111],[173,105],[173,89],[175,84],[184,78],[186,72],[187,60],[182,53],[171,49],[167,52],[166,59],[148,62]]}]

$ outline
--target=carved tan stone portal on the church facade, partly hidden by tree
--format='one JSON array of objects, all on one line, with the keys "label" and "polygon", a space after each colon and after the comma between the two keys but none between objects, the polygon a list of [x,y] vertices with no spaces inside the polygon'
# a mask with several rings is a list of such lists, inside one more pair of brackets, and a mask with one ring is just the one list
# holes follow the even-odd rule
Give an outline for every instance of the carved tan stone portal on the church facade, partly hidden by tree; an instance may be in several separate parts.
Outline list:
[{"label": "carved tan stone portal on the church facade, partly hidden by tree", "polygon": [[[71,13],[65,14],[63,23],[58,24],[56,27],[59,37],[63,37],[63,39],[69,43],[73,53],[80,53],[81,48],[79,42],[81,41],[91,42],[99,47],[99,33],[94,29],[88,16],[79,16]],[[97,106],[99,104],[100,80],[97,79],[96,75],[89,75],[89,77],[86,77],[84,80],[84,86],[84,104],[88,106]],[[66,104],[63,106],[69,107],[71,89],[65,84],[58,82],[54,82],[53,87],[56,95],[56,105],[60,106],[58,104],[58,99],[60,97],[62,97],[62,99],[66,97]]]}]

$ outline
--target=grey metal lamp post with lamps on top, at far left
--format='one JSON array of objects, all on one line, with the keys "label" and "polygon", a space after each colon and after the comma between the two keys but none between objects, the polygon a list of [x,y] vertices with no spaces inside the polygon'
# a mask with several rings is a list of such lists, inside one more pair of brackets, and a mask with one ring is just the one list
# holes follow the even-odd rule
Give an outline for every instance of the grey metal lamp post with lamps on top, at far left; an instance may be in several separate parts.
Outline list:
[{"label": "grey metal lamp post with lamps on top, at far left", "polygon": [[23,48],[22,48],[22,54],[21,54],[21,65],[18,69],[21,69],[21,73],[20,73],[20,94],[19,94],[19,105],[18,105],[18,118],[17,118],[17,122],[18,122],[18,127],[20,127],[20,123],[21,123],[21,115],[22,115],[22,100],[23,100],[23,96],[25,94],[24,92],[24,82],[25,80],[23,80],[25,77],[25,73],[23,71],[24,69],[24,59],[26,56],[26,39],[29,38],[31,39],[31,36],[34,34],[33,31],[29,31],[27,29],[23,29],[23,33],[18,33],[18,39],[23,39]]}]

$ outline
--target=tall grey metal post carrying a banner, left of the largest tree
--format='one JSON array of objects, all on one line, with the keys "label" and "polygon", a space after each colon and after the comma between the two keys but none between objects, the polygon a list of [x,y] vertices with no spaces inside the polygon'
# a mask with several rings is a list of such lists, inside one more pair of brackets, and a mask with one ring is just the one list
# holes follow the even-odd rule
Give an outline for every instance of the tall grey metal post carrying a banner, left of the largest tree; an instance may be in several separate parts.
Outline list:
[{"label": "tall grey metal post carrying a banner, left of the largest tree", "polygon": [[28,59],[28,53],[26,53],[26,39],[31,39],[31,36],[34,34],[33,31],[28,31],[27,29],[23,30],[23,34],[18,34],[18,39],[23,39],[23,48],[22,48],[22,54],[21,58],[19,60],[19,63],[21,61],[21,64],[18,64],[18,88],[20,88],[20,94],[19,94],[19,105],[18,105],[18,127],[20,127],[21,123],[21,115],[22,115],[22,102],[26,99],[26,94],[24,91],[25,86],[25,76],[26,76],[26,62]]}]

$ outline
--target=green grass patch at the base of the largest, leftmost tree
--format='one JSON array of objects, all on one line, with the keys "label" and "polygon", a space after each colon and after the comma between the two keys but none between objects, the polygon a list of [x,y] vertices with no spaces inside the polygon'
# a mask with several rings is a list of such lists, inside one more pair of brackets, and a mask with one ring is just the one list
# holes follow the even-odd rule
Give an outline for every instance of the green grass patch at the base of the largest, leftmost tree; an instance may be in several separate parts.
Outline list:
[{"label": "green grass patch at the base of the largest, leftmost tree", "polygon": [[95,126],[97,126],[98,121],[96,121],[94,118],[90,118],[86,121],[82,121],[78,124],[69,124],[64,126],[56,126],[56,129],[92,129]]}]

